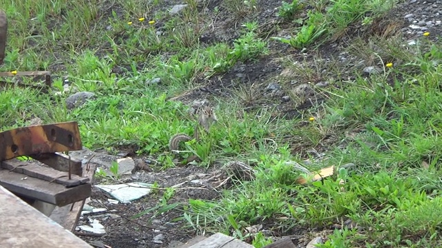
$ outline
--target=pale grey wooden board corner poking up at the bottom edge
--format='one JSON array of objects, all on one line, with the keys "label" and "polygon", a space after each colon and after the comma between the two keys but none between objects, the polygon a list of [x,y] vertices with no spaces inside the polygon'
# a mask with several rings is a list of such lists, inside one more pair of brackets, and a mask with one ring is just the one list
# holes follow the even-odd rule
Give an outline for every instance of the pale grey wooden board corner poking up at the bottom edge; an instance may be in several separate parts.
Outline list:
[{"label": "pale grey wooden board corner poking up at the bottom edge", "polygon": [[179,248],[253,248],[253,245],[249,245],[247,242],[242,242],[231,236],[217,233],[209,238],[204,238],[194,245],[188,246],[184,244]]}]

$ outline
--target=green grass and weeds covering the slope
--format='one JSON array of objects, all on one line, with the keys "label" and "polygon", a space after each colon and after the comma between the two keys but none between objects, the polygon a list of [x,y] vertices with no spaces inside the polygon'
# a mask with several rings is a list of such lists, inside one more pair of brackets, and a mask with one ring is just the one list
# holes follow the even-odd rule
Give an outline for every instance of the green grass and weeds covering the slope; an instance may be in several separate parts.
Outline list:
[{"label": "green grass and weeds covering the slope", "polygon": [[[182,15],[170,16],[160,0],[147,9],[145,1],[115,1],[114,12],[100,1],[0,0],[10,21],[1,70],[51,70],[56,75],[49,94],[4,88],[1,130],[28,125],[35,116],[46,123],[75,120],[86,147],[131,147],[137,154],[155,156],[162,169],[173,167],[169,138],[177,132],[193,134],[195,121],[186,114],[186,105],[168,99],[231,72],[237,63],[253,66],[278,54],[271,49],[278,41],[260,34],[262,20],[256,14],[266,8],[260,1],[229,0],[212,13],[198,11],[195,1],[186,3]],[[296,35],[277,40],[294,48],[318,47],[356,25],[370,25],[393,5],[375,0],[284,3],[278,15],[285,23],[279,28],[289,27]],[[238,38],[201,43],[200,35],[211,29],[218,14],[233,15],[240,24]],[[202,158],[202,167],[240,160],[253,165],[255,178],[233,180],[213,201],[168,205],[174,196],[171,189],[156,211],[183,211],[186,227],[197,233],[222,231],[253,240],[256,247],[269,243],[268,237],[249,236],[245,227],[265,223],[266,228],[292,234],[332,229],[347,219],[363,229],[330,231],[320,247],[441,246],[442,46],[430,41],[432,34],[408,49],[400,37],[353,38],[347,51],[383,72],[365,78],[361,68],[342,65],[340,70],[323,59],[281,60],[301,81],[333,83],[317,89],[327,101],[300,110],[300,118],[276,118],[271,108],[244,108],[256,100],[253,84],[235,87],[232,96],[211,99],[219,121],[210,134],[187,147]],[[386,68],[390,62],[394,66]],[[345,70],[351,71],[346,78],[354,80],[341,80]],[[97,98],[67,110],[64,99],[69,93],[54,94],[63,88],[64,76],[77,90],[94,92]],[[146,83],[155,78],[161,82]],[[289,83],[280,80],[281,85]],[[314,121],[308,122],[311,116]],[[301,172],[286,162],[302,163],[312,148],[323,148],[326,159],[311,158],[313,163],[306,165],[310,171],[346,163],[356,168],[298,185]]]}]

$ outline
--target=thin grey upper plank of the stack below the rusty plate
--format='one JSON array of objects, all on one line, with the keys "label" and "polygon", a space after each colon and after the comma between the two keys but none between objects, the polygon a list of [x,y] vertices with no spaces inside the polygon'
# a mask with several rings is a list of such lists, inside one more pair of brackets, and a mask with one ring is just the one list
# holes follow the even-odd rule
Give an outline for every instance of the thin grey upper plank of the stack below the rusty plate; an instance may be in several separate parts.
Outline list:
[{"label": "thin grey upper plank of the stack below the rusty plate", "polygon": [[4,169],[8,169],[12,172],[21,173],[26,176],[46,180],[52,183],[59,183],[66,187],[74,187],[88,183],[89,181],[89,178],[80,177],[75,174],[71,174],[71,179],[69,179],[67,172],[60,172],[56,169],[43,167],[32,161],[23,162],[13,158],[9,161],[1,162],[0,165]]}]

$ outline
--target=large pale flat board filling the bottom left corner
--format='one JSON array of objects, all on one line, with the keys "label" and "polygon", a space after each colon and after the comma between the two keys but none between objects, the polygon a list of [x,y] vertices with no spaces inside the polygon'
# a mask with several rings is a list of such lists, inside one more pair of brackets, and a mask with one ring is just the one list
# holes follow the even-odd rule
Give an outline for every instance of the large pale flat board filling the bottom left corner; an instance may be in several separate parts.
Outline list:
[{"label": "large pale flat board filling the bottom left corner", "polygon": [[92,248],[0,186],[0,247]]}]

